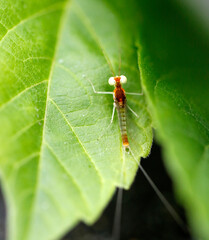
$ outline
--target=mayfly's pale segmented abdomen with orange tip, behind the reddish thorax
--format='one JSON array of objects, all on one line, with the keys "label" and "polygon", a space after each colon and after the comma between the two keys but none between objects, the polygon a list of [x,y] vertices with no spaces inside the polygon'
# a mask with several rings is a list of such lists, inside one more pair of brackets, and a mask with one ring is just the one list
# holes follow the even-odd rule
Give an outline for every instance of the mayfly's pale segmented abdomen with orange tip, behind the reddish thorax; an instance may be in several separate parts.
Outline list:
[{"label": "mayfly's pale segmented abdomen with orange tip, behind the reddish thorax", "polygon": [[127,136],[127,129],[126,129],[126,109],[125,104],[120,104],[119,102],[115,102],[117,112],[118,112],[118,119],[120,123],[120,131],[121,131],[121,137],[124,147],[129,146],[128,142],[128,136]]}]

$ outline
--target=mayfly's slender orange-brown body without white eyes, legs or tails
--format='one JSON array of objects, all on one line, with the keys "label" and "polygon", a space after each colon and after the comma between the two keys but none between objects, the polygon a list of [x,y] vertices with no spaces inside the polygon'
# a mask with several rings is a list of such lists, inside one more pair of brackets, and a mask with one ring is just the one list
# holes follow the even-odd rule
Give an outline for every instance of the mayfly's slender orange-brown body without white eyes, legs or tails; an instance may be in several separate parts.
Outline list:
[{"label": "mayfly's slender orange-brown body without white eyes, legs or tails", "polygon": [[120,122],[120,131],[122,137],[122,143],[125,148],[129,147],[127,129],[126,129],[126,95],[125,90],[121,86],[121,77],[114,77],[115,89],[114,89],[114,103],[118,112],[118,119]]}]

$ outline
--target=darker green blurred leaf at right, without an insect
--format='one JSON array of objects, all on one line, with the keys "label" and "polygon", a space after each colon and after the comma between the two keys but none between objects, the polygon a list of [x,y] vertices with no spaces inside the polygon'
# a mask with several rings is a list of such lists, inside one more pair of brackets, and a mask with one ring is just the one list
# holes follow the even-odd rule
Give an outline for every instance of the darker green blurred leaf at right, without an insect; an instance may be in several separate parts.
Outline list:
[{"label": "darker green blurred leaf at right, without an insect", "polygon": [[195,233],[209,239],[207,33],[171,1],[140,8],[139,65],[166,165]]}]

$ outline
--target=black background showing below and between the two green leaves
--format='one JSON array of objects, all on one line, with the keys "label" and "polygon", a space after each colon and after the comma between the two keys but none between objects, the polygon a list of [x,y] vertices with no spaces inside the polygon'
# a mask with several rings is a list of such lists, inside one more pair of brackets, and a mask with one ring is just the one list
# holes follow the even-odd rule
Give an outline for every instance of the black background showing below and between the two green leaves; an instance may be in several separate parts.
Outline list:
[{"label": "black background showing below and between the two green leaves", "polygon": [[[164,169],[161,148],[154,143],[142,166],[160,188],[163,195],[185,220],[184,210],[173,195],[172,183]],[[116,207],[116,194],[103,215],[93,226],[81,223],[62,240],[110,240]],[[0,193],[0,240],[5,240],[5,203]],[[139,170],[130,190],[123,192],[121,240],[189,240]],[[38,236],[37,236],[38,240]]]}]

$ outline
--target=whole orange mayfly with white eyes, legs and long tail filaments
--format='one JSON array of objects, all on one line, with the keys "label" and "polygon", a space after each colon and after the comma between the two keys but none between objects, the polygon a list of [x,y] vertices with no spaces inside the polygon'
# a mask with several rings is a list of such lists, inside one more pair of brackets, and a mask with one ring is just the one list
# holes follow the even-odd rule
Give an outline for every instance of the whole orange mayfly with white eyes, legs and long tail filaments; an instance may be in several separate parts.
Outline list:
[{"label": "whole orange mayfly with white eyes, legs and long tail filaments", "polygon": [[[117,109],[118,113],[118,119],[119,119],[119,125],[120,125],[120,132],[121,132],[121,139],[122,139],[122,145],[123,145],[123,151],[128,152],[128,154],[131,154],[134,158],[135,162],[137,163],[139,169],[144,174],[145,178],[163,203],[163,205],[166,207],[168,212],[171,214],[173,219],[176,221],[176,223],[182,227],[182,229],[187,229],[185,226],[183,220],[178,215],[178,213],[175,211],[175,209],[171,206],[171,204],[167,201],[167,199],[163,196],[163,194],[160,192],[158,187],[155,185],[155,183],[152,181],[150,176],[147,174],[147,172],[144,170],[144,168],[141,166],[140,162],[137,161],[137,158],[135,157],[134,153],[131,150],[131,147],[129,145],[128,141],[128,135],[127,135],[127,124],[126,124],[126,109],[128,108],[136,117],[139,117],[137,113],[134,112],[134,110],[127,104],[126,95],[143,95],[143,93],[131,93],[131,92],[125,92],[125,90],[122,88],[122,84],[125,84],[127,82],[127,78],[124,75],[121,76],[115,76],[110,77],[108,80],[108,83],[111,86],[115,86],[115,89],[113,92],[101,92],[96,91],[94,85],[89,80],[92,89],[94,93],[96,94],[112,94],[113,95],[113,111],[112,111],[112,117],[109,126],[112,124],[115,114],[115,109]],[[108,126],[108,128],[109,128]],[[124,162],[123,166],[124,168]],[[122,169],[123,171],[123,169]],[[121,171],[121,172],[122,172]],[[122,183],[122,174],[121,174],[121,183]],[[118,240],[120,237],[120,218],[121,218],[121,205],[122,205],[122,188],[119,188],[118,191],[118,197],[117,197],[117,205],[116,205],[116,212],[115,212],[115,220],[114,220],[114,226],[113,226],[113,239]]]}]

